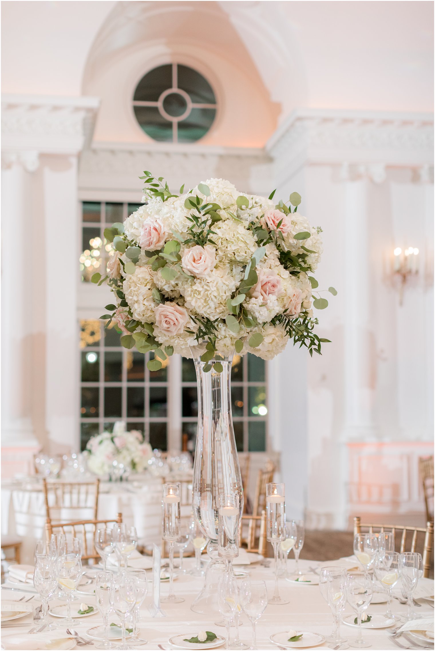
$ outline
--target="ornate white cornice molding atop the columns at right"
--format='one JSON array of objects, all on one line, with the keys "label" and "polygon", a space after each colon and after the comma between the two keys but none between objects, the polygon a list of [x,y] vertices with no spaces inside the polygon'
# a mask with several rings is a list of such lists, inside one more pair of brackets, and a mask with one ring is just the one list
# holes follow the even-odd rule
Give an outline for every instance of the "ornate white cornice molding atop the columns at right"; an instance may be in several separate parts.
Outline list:
[{"label": "ornate white cornice molding atop the columns at right", "polygon": [[386,167],[431,165],[433,148],[432,115],[324,109],[295,111],[266,144],[279,183],[307,163],[341,165],[341,178],[382,183]]}]

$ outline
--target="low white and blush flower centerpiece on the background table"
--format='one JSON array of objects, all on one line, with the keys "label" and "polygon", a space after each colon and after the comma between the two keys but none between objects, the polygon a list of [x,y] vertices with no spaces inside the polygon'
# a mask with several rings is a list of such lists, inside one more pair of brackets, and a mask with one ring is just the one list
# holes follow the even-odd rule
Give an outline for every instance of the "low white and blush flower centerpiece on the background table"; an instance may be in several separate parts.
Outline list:
[{"label": "low white and blush flower centerpiece on the background table", "polygon": [[125,422],[115,422],[113,432],[102,432],[89,439],[87,446],[87,467],[95,475],[107,475],[113,469],[113,462],[123,464],[133,473],[141,473],[152,458],[152,448],[143,441],[138,430],[126,431]]}]

